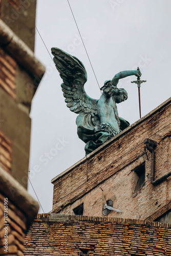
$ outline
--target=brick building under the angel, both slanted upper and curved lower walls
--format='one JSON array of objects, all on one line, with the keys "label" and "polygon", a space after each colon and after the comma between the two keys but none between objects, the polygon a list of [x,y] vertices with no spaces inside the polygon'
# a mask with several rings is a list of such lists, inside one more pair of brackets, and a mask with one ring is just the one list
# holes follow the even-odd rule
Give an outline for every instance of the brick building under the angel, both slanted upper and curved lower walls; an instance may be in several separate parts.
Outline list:
[{"label": "brick building under the angel, both slanted upper and curved lower walls", "polygon": [[171,98],[56,176],[24,254],[170,255],[170,112]]}]

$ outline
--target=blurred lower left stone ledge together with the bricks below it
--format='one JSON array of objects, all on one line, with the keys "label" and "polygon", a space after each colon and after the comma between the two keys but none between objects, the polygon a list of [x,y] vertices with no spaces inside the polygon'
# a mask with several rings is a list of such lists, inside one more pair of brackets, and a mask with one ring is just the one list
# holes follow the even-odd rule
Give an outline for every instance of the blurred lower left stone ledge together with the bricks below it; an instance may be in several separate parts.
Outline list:
[{"label": "blurred lower left stone ledge together with the bricks below it", "polygon": [[22,256],[38,203],[0,167],[0,255]]}]

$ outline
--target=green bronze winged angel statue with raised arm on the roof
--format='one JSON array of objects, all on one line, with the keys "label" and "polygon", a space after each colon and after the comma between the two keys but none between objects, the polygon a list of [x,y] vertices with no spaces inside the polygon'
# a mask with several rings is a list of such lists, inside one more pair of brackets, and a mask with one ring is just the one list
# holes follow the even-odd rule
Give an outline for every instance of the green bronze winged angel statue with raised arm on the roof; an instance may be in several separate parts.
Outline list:
[{"label": "green bronze winged angel statue with raised arm on the roof", "polygon": [[78,137],[86,143],[86,155],[94,151],[127,126],[129,122],[118,116],[116,103],[127,99],[127,92],[117,88],[119,79],[126,76],[141,76],[139,70],[122,71],[112,80],[106,80],[99,100],[87,95],[84,83],[87,72],[82,62],[74,56],[52,48],[56,69],[63,80],[61,88],[68,108],[78,114],[76,118]]}]

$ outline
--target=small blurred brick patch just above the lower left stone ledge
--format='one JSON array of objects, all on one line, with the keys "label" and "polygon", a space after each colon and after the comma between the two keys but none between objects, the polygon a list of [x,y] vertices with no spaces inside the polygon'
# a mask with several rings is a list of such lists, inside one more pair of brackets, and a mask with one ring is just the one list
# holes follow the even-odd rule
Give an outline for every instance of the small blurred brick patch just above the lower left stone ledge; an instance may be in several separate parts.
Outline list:
[{"label": "small blurred brick patch just above the lower left stone ledge", "polygon": [[11,157],[12,143],[7,136],[0,131],[0,166],[2,166],[8,173],[11,172]]}]

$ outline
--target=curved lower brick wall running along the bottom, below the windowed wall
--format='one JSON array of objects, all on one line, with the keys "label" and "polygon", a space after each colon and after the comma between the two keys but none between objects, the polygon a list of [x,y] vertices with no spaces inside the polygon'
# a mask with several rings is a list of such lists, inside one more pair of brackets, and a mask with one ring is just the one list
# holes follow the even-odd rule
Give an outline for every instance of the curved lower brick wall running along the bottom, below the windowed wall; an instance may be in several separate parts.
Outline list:
[{"label": "curved lower brick wall running along the bottom, below the windowed wall", "polygon": [[[24,255],[170,255],[171,226],[142,220],[38,215]],[[85,254],[85,255],[86,255]],[[88,255],[88,254],[87,254]]]}]

